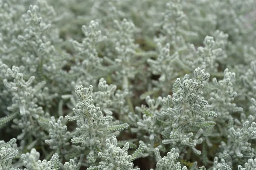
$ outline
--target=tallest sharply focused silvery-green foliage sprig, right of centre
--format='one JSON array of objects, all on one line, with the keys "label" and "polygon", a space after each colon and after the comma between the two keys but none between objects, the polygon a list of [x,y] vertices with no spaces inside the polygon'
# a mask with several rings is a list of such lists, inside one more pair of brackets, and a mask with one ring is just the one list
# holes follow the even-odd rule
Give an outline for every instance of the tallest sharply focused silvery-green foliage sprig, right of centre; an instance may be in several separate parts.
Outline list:
[{"label": "tallest sharply focused silvery-green foliage sprig, right of centre", "polygon": [[162,143],[189,146],[195,153],[201,154],[195,146],[203,141],[200,136],[202,134],[208,136],[209,130],[216,124],[207,119],[217,115],[207,110],[208,102],[201,97],[203,82],[209,79],[209,74],[205,74],[204,69],[196,68],[194,77],[195,80],[192,80],[185,75],[183,82],[178,78],[173,86],[173,108],[168,108],[162,113],[167,119],[173,120],[169,128],[165,128],[162,132],[163,136],[169,136],[170,139],[164,139]]}]

